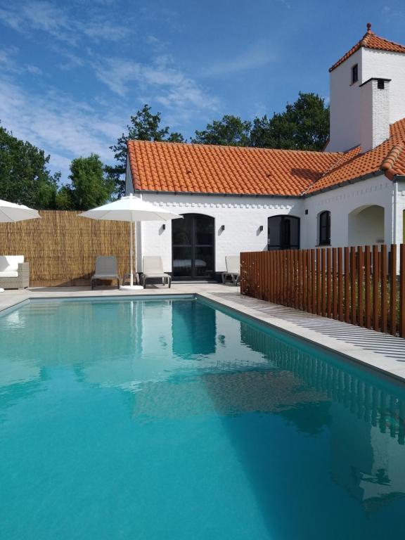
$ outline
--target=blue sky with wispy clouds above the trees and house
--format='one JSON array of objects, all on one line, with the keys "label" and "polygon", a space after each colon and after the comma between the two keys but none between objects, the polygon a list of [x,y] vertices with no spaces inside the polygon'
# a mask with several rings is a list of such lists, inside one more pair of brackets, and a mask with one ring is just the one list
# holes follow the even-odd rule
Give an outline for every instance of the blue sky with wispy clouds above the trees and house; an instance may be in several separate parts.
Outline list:
[{"label": "blue sky with wispy clouds above the trees and house", "polygon": [[0,120],[51,154],[112,158],[143,103],[190,137],[224,114],[328,97],[328,68],[366,31],[405,43],[401,1],[0,0]]}]

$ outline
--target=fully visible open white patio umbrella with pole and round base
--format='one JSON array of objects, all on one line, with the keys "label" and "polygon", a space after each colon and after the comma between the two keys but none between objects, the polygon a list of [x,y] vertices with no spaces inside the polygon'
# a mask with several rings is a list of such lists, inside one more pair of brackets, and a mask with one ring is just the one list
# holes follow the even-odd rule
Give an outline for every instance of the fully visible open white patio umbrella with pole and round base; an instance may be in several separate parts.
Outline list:
[{"label": "fully visible open white patio umbrella with pole and round base", "polygon": [[143,287],[134,285],[134,231],[133,226],[136,221],[169,221],[171,219],[182,218],[178,214],[173,214],[169,210],[160,208],[147,203],[139,197],[128,195],[115,200],[113,203],[87,210],[80,214],[82,217],[90,217],[91,219],[108,219],[110,221],[129,221],[129,257],[130,257],[130,285],[121,285],[122,290],[141,290]]}]

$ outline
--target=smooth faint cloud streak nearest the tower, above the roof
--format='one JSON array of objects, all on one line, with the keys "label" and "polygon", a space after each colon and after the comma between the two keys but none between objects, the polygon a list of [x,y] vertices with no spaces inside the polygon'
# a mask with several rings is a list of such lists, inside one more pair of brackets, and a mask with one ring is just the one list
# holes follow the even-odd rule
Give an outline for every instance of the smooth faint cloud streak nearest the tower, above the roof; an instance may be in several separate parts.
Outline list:
[{"label": "smooth faint cloud streak nearest the tower, above the roof", "polygon": [[238,56],[213,62],[203,69],[202,74],[205,77],[223,77],[231,73],[262,68],[275,59],[274,53],[271,52],[271,45],[266,41],[258,41]]}]

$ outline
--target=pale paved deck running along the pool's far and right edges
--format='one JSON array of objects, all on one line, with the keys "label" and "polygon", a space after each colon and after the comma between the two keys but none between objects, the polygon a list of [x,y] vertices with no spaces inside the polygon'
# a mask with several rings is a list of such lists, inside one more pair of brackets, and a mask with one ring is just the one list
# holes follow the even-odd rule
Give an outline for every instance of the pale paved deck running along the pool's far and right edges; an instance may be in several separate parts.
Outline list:
[{"label": "pale paved deck running along the pool's far and right edges", "polygon": [[[359,326],[326,319],[305,311],[255,300],[240,295],[233,285],[219,283],[174,284],[172,288],[150,286],[134,292],[105,287],[42,287],[6,290],[0,293],[0,314],[4,309],[30,299],[72,297],[142,297],[154,295],[198,295],[238,311],[257,321],[269,324],[304,341],[319,345],[346,359],[364,364],[386,375],[405,381],[405,339],[394,338]],[[1,346],[1,344],[0,344]]]}]

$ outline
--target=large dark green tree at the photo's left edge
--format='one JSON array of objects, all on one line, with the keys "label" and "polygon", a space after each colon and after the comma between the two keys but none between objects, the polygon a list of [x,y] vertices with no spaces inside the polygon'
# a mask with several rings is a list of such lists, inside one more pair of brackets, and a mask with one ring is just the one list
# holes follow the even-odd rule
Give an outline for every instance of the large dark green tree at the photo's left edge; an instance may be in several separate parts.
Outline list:
[{"label": "large dark green tree at the photo's left edge", "polygon": [[0,199],[37,209],[53,208],[60,173],[48,170],[50,156],[0,126]]}]

